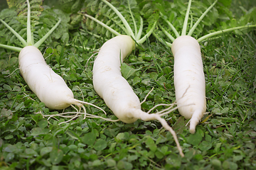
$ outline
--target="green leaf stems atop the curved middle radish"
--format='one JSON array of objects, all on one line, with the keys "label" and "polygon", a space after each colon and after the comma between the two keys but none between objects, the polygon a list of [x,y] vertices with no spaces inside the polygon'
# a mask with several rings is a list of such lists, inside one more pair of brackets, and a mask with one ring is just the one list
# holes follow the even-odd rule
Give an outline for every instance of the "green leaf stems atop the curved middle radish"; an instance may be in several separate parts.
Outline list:
[{"label": "green leaf stems atop the curved middle radish", "polygon": [[[139,44],[142,44],[143,42],[145,42],[146,38],[149,38],[151,33],[153,33],[153,30],[156,27],[157,20],[154,21],[154,23],[152,23],[151,26],[147,28],[146,33],[143,33],[143,28],[144,28],[143,18],[137,13],[137,11],[133,11],[135,1],[133,2],[123,1],[122,3],[124,3],[125,5],[122,4],[119,7],[113,6],[112,4],[110,4],[110,2],[106,0],[101,0],[101,2],[104,2],[104,4],[107,4],[105,6],[108,6],[108,8],[110,9],[108,9],[107,12],[98,11],[95,17],[90,16],[87,13],[83,13],[83,15],[86,17],[85,23],[89,24],[89,21],[87,20],[90,19],[92,21],[95,21],[97,24],[99,24],[100,26],[102,26],[103,28],[105,28],[107,31],[114,34],[115,36],[126,34],[131,36],[132,39],[136,40],[136,42]],[[92,4],[87,4],[87,8],[92,8]],[[111,11],[113,11],[114,13],[112,13]],[[123,13],[127,14],[127,16],[124,17]],[[108,18],[108,20],[106,21],[105,18]],[[87,26],[97,26],[97,24],[93,25],[91,23],[90,25],[87,25]],[[90,29],[100,30],[100,28],[90,28]],[[106,35],[107,33],[109,33],[107,31],[105,32]]]}]

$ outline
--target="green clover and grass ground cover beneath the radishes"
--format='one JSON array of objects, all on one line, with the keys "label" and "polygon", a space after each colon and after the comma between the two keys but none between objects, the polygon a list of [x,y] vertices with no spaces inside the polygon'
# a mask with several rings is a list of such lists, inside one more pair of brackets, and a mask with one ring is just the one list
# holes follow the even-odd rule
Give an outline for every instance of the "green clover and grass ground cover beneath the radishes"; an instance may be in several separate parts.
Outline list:
[{"label": "green clover and grass ground cover beneath the radishes", "polygon": [[[249,9],[249,3],[235,1],[230,10],[240,16],[238,6]],[[58,125],[66,119],[47,120],[35,114],[56,111],[49,111],[38,100],[16,70],[18,52],[0,48],[0,169],[256,169],[255,35],[255,30],[241,35],[226,33],[201,42],[209,112],[206,121],[192,135],[186,127],[188,120],[178,111],[164,117],[178,135],[183,158],[171,134],[157,121],[125,124],[81,116]],[[78,47],[98,48],[104,42],[74,24],[68,35],[48,39],[40,50],[75,98],[100,106],[107,116],[90,106],[86,107],[88,113],[114,119],[92,86],[95,50]],[[151,36],[124,62],[122,74],[141,101],[154,87],[142,104],[144,111],[175,101],[174,58],[169,47]]]}]

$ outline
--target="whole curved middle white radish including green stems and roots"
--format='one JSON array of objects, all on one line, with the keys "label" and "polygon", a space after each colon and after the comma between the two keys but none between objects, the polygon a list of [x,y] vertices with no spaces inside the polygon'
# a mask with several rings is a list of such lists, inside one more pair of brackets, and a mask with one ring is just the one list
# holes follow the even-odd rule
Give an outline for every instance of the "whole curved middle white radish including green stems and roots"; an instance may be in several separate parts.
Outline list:
[{"label": "whole curved middle white radish including green stems and roots", "polygon": [[[100,48],[100,52],[95,59],[92,71],[92,81],[95,91],[97,92],[97,94],[99,94],[100,97],[104,99],[105,103],[114,113],[114,115],[116,115],[117,118],[119,118],[119,120],[124,123],[134,123],[138,119],[144,121],[159,120],[161,125],[163,125],[166,130],[169,130],[169,132],[171,132],[171,135],[173,135],[176,142],[179,154],[181,155],[181,157],[184,157],[176,133],[166,123],[166,120],[164,120],[164,118],[161,118],[161,116],[171,113],[171,111],[174,111],[176,109],[172,108],[175,103],[159,104],[162,106],[169,106],[169,108],[166,108],[163,111],[159,111],[158,113],[149,114],[150,111],[152,111],[159,105],[154,106],[147,113],[142,111],[141,104],[145,100],[142,101],[142,103],[139,102],[138,96],[134,94],[132,87],[129,85],[127,80],[122,77],[121,74],[120,67],[124,58],[132,52],[135,42],[137,44],[142,44],[143,42],[145,42],[146,38],[151,35],[156,26],[156,20],[153,19],[154,23],[148,26],[146,33],[144,34],[144,36],[142,36],[142,30],[144,30],[143,19],[141,16],[139,16],[139,13],[132,12],[132,9],[136,9],[136,6],[134,6],[134,4],[129,4],[130,1],[123,1],[127,3],[127,6],[124,5],[124,8],[127,8],[127,11],[129,11],[129,15],[133,21],[132,25],[130,25],[127,19],[122,16],[122,11],[119,11],[108,1],[102,1],[107,4],[107,6],[109,6],[112,11],[114,11],[114,13],[117,15],[117,17],[112,16],[112,19],[115,20],[114,23],[118,23],[117,27],[119,27],[120,30],[123,30],[123,32],[118,33],[116,30],[112,29],[113,26],[107,26],[108,22],[103,23],[102,21],[99,21],[97,19],[99,16],[97,15],[96,18],[94,18],[86,13],[83,14],[87,18],[87,20],[90,19],[93,22],[98,23],[99,26],[103,26],[105,29],[107,29],[107,31],[110,31],[113,35],[116,35],[116,37],[107,40],[107,42],[102,45],[102,47]],[[123,12],[127,13],[127,11]],[[104,15],[104,13],[99,12],[99,15]],[[137,17],[134,17],[134,15],[136,15]],[[137,27],[137,19],[139,19],[139,27]],[[122,23],[120,23],[119,21],[122,21]],[[130,26],[133,26],[134,29],[132,29]],[[98,29],[95,28],[95,30]],[[124,33],[127,35],[122,35]]]}]

